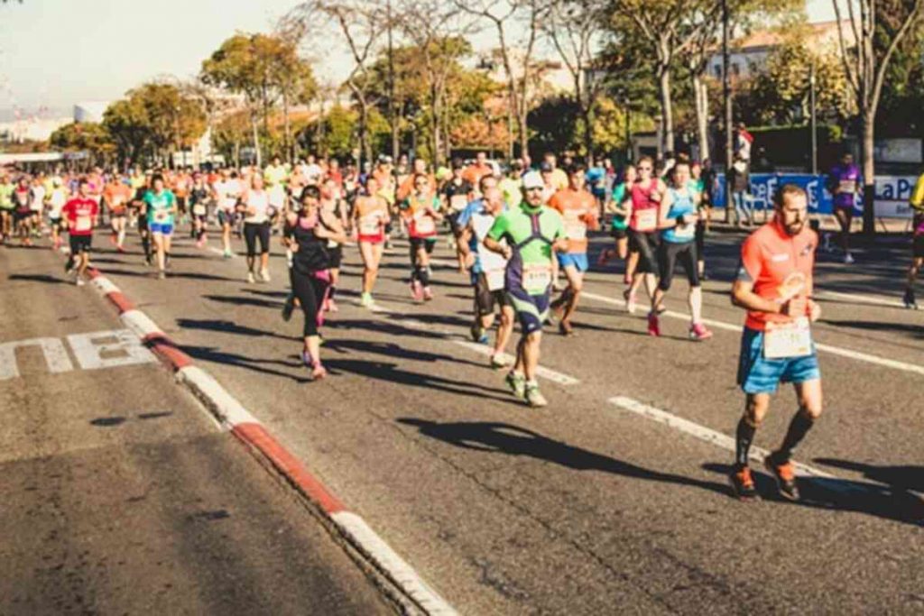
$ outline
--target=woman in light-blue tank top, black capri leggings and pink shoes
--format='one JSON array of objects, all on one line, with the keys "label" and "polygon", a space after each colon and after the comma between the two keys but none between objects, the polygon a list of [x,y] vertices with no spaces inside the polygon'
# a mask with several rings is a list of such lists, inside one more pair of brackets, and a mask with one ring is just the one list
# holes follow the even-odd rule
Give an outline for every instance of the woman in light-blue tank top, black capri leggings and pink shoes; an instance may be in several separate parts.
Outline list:
[{"label": "woman in light-blue tank top, black capri leggings and pink shoes", "polygon": [[690,165],[685,160],[674,163],[671,174],[671,187],[664,193],[661,201],[660,221],[662,229],[658,262],[661,266],[661,280],[651,298],[651,311],[648,316],[648,332],[654,336],[661,335],[658,313],[664,295],[670,290],[674,280],[677,262],[683,264],[687,272],[689,293],[687,304],[690,308],[689,337],[693,340],[706,340],[712,332],[702,322],[702,287],[699,285],[697,270],[696,223],[699,215],[699,193],[690,182]]}]

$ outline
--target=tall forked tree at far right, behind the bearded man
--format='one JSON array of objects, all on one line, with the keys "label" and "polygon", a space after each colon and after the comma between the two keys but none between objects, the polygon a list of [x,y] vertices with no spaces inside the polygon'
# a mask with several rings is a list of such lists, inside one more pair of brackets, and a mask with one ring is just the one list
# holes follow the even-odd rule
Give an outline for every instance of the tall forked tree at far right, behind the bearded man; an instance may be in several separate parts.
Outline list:
[{"label": "tall forked tree at far right, behind the bearded man", "polygon": [[[855,6],[856,4],[856,6]],[[874,145],[876,114],[889,63],[924,13],[924,0],[833,0],[844,72],[857,101],[863,163],[863,232],[876,233]]]}]

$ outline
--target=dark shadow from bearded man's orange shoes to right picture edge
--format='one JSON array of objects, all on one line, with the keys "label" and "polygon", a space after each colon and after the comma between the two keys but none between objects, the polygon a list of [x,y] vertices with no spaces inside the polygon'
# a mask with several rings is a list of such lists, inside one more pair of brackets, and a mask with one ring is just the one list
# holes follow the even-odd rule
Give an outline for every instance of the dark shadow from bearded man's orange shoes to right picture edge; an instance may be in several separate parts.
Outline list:
[{"label": "dark shadow from bearded man's orange shoes to right picture edge", "polygon": [[[711,463],[702,467],[723,476],[732,472],[730,465]],[[755,471],[754,480],[764,500],[790,503],[784,501],[776,491],[772,477]],[[812,509],[866,513],[895,522],[924,525],[924,501],[907,491],[895,491],[877,483],[830,477],[799,477],[798,484],[801,499],[790,504]],[[731,496],[731,489],[724,491]]]}]

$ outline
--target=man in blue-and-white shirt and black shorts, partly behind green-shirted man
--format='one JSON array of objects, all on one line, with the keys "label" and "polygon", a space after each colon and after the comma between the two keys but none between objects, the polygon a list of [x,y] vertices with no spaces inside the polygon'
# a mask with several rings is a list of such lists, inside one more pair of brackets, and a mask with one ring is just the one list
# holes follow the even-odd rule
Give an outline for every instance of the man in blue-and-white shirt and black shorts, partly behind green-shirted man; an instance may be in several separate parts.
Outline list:
[{"label": "man in blue-and-white shirt and black shorts, partly behind green-shirted man", "polygon": [[[485,248],[484,240],[497,217],[505,211],[506,203],[503,192],[496,187],[488,188],[481,202],[480,211],[471,216],[468,226],[462,230],[460,245],[463,247],[463,258],[471,272],[472,285],[475,288],[475,316],[480,331],[477,336],[479,342],[488,343],[488,336],[484,332],[494,325],[494,307],[497,306],[501,310],[501,322],[494,339],[491,366],[503,369],[510,366],[505,350],[514,330],[515,313],[504,290],[507,260],[503,255]],[[472,240],[473,246],[469,244],[469,240]],[[505,238],[501,238],[499,243],[503,248],[507,248]],[[475,335],[474,332],[472,335]]]}]

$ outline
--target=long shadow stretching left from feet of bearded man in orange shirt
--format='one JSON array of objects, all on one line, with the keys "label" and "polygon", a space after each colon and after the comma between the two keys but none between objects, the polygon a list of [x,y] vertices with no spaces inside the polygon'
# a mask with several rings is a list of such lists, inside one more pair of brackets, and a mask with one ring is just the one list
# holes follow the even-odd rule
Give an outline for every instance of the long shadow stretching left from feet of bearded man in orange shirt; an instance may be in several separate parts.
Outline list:
[{"label": "long shadow stretching left from feet of bearded man in orange shirt", "polygon": [[402,417],[397,421],[419,429],[420,434],[424,436],[479,452],[529,456],[577,471],[602,471],[622,477],[673,483],[722,494],[728,491],[720,483],[633,465],[563,441],[554,441],[538,432],[511,424],[482,421],[441,424],[416,417]]}]

